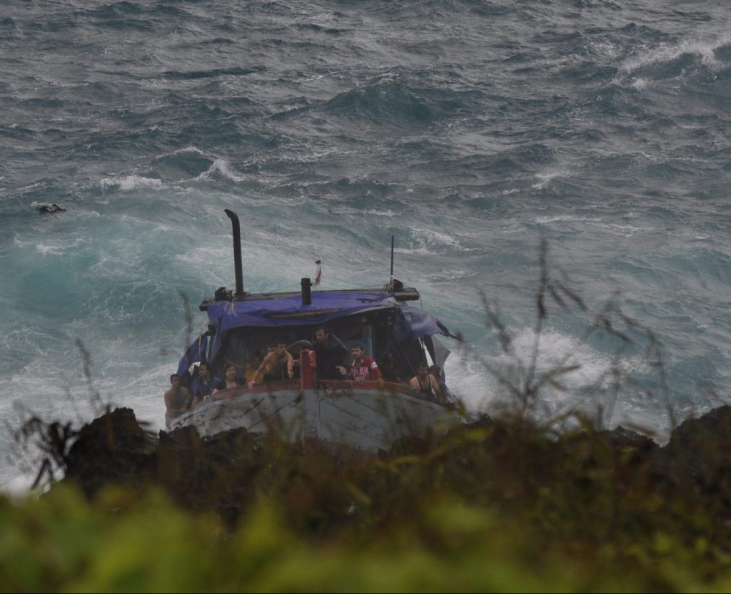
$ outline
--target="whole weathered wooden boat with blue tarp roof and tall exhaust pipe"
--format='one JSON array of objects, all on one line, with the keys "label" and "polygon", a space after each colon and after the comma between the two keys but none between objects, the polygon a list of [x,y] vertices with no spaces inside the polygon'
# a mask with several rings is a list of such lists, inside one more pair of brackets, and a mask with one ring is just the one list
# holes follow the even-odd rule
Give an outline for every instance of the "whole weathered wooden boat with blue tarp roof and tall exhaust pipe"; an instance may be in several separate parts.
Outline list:
[{"label": "whole weathered wooden boat with blue tarp roof and tall exhaust pipe", "polygon": [[[186,351],[178,374],[189,381],[196,363],[205,361],[221,377],[223,366],[233,362],[243,377],[267,345],[284,342],[298,359],[296,377],[221,390],[172,419],[170,430],[194,425],[201,435],[214,435],[243,427],[314,446],[346,443],[376,452],[398,439],[424,437],[461,422],[454,403],[437,403],[406,384],[420,362],[431,360],[443,369],[449,351],[436,336],[455,337],[431,314],[409,305],[419,293],[393,278],[393,243],[385,286],[312,291],[311,280],[303,278],[300,292],[251,294],[243,291],[238,216],[226,213],[233,226],[236,289],[221,287],[201,303],[208,331]],[[362,345],[391,375],[383,381],[322,377],[314,332],[323,326],[346,348]]]}]

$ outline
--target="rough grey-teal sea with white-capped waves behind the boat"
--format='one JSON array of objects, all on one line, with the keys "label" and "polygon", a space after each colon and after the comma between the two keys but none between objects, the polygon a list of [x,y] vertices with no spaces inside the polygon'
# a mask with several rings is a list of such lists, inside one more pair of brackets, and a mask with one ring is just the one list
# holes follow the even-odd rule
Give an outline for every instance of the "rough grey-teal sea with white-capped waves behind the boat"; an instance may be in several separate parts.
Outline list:
[{"label": "rough grey-teal sea with white-capped waves behind the boat", "polygon": [[621,357],[582,340],[587,316],[552,303],[537,365],[580,368],[548,414],[602,404],[606,383],[585,389],[615,365],[610,426],[662,440],[669,408],[727,403],[730,17],[710,0],[4,0],[0,484],[29,479],[12,446],[29,411],[88,420],[99,392],[162,427],[197,304],[233,285],[224,208],[250,291],[296,290],[318,257],[327,289],[385,284],[395,236],[395,276],[482,357],[450,345],[474,411],[500,392],[482,363],[511,361],[481,294],[529,360],[544,239],[663,362],[636,328]]}]

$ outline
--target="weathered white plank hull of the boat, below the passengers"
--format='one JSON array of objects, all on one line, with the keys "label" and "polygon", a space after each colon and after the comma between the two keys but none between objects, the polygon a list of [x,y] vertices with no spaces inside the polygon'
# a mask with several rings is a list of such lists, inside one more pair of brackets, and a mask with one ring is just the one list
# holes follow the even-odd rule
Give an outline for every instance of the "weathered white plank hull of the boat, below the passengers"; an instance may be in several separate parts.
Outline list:
[{"label": "weathered white plank hull of the boat, below the passengers", "polygon": [[302,443],[346,444],[363,452],[389,449],[401,438],[423,438],[461,423],[456,411],[424,400],[401,384],[327,382],[300,389],[297,383],[220,392],[170,422],[170,430],[193,425],[200,435],[244,428]]}]

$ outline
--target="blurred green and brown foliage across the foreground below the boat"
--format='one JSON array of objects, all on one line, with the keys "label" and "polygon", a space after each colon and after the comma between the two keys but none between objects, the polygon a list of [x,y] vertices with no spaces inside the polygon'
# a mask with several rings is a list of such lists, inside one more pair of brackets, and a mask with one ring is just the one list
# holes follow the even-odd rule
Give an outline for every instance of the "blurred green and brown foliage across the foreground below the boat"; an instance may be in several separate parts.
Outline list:
[{"label": "blurred green and brown foliage across the foreground below the boat", "polygon": [[591,427],[556,437],[522,419],[378,457],[235,433],[163,437],[156,467],[135,480],[89,490],[66,479],[0,500],[0,590],[731,587],[726,482],[700,489],[673,460],[659,464],[648,440]]}]

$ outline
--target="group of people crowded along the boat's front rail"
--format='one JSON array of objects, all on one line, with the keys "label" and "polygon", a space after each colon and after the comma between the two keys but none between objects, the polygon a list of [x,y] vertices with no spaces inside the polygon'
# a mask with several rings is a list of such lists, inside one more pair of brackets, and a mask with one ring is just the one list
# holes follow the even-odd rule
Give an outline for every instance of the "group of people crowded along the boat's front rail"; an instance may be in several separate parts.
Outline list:
[{"label": "group of people crowded along the boat's front rail", "polygon": [[[373,357],[365,354],[360,343],[348,349],[343,342],[326,327],[317,327],[315,342],[307,346],[315,353],[317,378],[330,380],[376,381],[383,386],[385,381],[408,384],[415,392],[436,403],[446,403],[447,390],[437,365],[429,367],[425,362],[417,365],[417,373],[409,381],[399,378],[390,357],[385,355],[379,367]],[[301,345],[300,345],[301,348]],[[293,357],[283,340],[268,346],[267,354],[254,354],[246,362],[245,378],[238,376],[238,369],[232,362],[223,367],[223,379],[213,376],[211,365],[201,362],[193,374],[189,387],[183,386],[183,379],[177,373],[170,376],[170,389],[164,394],[165,419],[170,422],[175,416],[190,411],[222,390],[275,381],[288,381],[299,376],[298,359]]]}]

